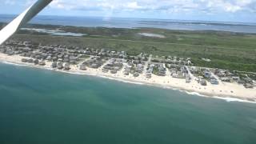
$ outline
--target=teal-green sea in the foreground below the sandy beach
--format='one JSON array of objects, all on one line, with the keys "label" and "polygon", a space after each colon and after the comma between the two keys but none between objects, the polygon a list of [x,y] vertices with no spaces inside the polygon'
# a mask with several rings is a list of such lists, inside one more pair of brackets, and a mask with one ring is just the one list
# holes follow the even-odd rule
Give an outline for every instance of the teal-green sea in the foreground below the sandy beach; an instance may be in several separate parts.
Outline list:
[{"label": "teal-green sea in the foreground below the sandy beach", "polygon": [[256,105],[0,63],[1,144],[254,144]]}]

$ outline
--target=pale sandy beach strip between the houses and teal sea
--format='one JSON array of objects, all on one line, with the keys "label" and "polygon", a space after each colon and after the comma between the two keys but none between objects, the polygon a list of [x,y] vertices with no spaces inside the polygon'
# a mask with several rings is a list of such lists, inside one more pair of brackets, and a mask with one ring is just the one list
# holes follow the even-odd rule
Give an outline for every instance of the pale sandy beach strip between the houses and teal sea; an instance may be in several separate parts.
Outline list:
[{"label": "pale sandy beach strip between the houses and teal sea", "polygon": [[23,63],[22,58],[18,55],[6,55],[0,53],[0,61],[1,62],[11,62],[15,64],[20,64],[24,66],[33,66],[37,68],[44,68],[48,70],[56,70],[60,72],[68,72],[74,74],[89,74],[99,77],[116,79],[119,81],[133,82],[133,83],[141,83],[151,86],[160,86],[164,88],[170,89],[178,89],[178,90],[186,90],[188,92],[192,92],[192,94],[202,94],[209,97],[219,97],[219,98],[238,98],[250,102],[256,102],[256,89],[246,89],[242,85],[238,85],[237,83],[230,82],[220,82],[218,85],[211,85],[210,83],[207,86],[202,86],[195,79],[192,79],[190,83],[186,83],[185,79],[180,78],[171,78],[170,72],[168,71],[165,77],[157,76],[152,74],[152,78],[146,78],[145,74],[141,74],[138,77],[134,77],[133,75],[124,75],[122,72],[124,70],[118,71],[117,74],[103,73],[102,67],[98,69],[87,68],[87,70],[79,70],[78,66],[70,66],[69,71],[65,70],[57,70],[51,68],[52,62],[46,61],[46,66],[35,66],[33,63]]}]

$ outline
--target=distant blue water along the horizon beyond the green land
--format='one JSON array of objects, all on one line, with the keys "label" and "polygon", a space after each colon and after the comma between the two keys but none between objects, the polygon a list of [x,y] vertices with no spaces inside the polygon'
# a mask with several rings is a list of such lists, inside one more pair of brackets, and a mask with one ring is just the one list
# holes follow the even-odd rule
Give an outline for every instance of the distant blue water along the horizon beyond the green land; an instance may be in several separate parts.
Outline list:
[{"label": "distant blue water along the horizon beyond the green land", "polygon": [[[0,22],[10,22],[14,18],[15,15],[0,14]],[[256,34],[256,23],[245,22],[206,22],[147,18],[64,17],[40,15],[32,19],[30,23],[86,27],[154,27],[169,30],[222,30]]]}]

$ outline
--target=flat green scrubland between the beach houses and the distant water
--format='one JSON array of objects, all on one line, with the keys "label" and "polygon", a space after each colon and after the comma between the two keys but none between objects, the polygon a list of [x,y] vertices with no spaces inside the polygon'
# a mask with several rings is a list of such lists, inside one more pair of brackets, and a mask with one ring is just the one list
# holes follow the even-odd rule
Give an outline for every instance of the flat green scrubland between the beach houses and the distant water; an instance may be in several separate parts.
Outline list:
[{"label": "flat green scrubland between the beach houses and the distant water", "polygon": [[[128,54],[134,55],[145,52],[158,56],[190,57],[195,66],[256,72],[256,34],[150,28],[117,29],[49,25],[30,25],[28,27],[51,30],[58,28],[66,32],[87,35],[82,38],[61,37],[34,34],[22,30],[14,38],[49,45],[125,50]],[[146,37],[139,33],[161,34],[166,38]],[[202,58],[209,58],[211,62],[205,62]]]}]

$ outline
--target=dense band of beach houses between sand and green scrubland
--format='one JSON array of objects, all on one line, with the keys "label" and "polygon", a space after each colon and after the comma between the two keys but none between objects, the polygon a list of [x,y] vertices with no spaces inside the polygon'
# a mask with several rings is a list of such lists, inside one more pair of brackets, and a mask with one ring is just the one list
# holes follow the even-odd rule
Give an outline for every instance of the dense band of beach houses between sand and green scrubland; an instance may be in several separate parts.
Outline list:
[{"label": "dense band of beach houses between sand and green scrubland", "polygon": [[[104,70],[121,70],[121,63],[127,63],[124,74],[142,74],[146,60],[149,59],[148,54],[138,54],[138,56],[130,56],[125,51],[110,51],[105,49],[91,49],[81,48],[74,46],[61,46],[61,45],[46,45],[32,43],[32,42],[6,42],[6,46],[0,47],[0,52],[4,54],[19,54],[28,59],[23,59],[24,62],[34,63],[35,65],[43,65],[43,62],[62,63],[59,64],[59,68],[69,65],[76,65],[82,61],[81,56],[84,54],[93,55],[86,62],[80,65],[80,70],[86,70],[86,66],[97,69],[102,66],[108,58],[110,63],[106,65]],[[111,62],[113,61],[113,62]],[[122,61],[122,62],[118,62]],[[116,62],[116,63],[115,63]],[[119,63],[119,65],[117,64]],[[184,65],[191,65],[190,58],[177,58],[177,57],[163,57],[153,58],[149,64],[147,64],[146,74],[156,74],[159,76],[165,76],[166,70],[170,70],[171,76],[174,78],[186,78],[186,82],[189,82],[190,76],[188,70]],[[55,66],[55,65],[54,65]],[[58,67],[58,64],[57,64]],[[113,70],[113,73],[114,73]],[[192,74],[198,74],[209,81],[211,84],[218,84],[218,81],[222,82],[238,82],[246,87],[254,86],[254,81],[249,78],[241,78],[239,75],[230,73],[229,70],[219,69],[206,69],[200,67],[190,66],[190,72]],[[214,77],[218,76],[218,78]]]}]

